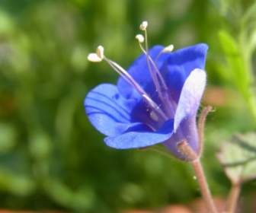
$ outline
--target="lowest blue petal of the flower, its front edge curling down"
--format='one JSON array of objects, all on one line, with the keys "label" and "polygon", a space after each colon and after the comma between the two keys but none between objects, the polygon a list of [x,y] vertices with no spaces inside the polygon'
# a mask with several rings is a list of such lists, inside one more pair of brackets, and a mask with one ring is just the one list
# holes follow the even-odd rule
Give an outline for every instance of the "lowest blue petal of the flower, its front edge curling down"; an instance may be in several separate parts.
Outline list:
[{"label": "lowest blue petal of the flower, its front edge curling down", "polygon": [[143,148],[166,141],[173,133],[173,119],[168,120],[156,132],[142,124],[127,129],[122,135],[104,138],[105,143],[117,149]]}]

